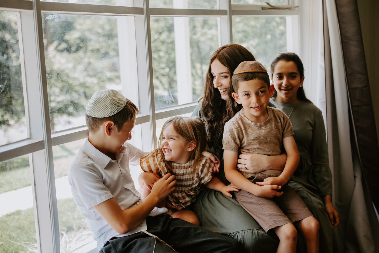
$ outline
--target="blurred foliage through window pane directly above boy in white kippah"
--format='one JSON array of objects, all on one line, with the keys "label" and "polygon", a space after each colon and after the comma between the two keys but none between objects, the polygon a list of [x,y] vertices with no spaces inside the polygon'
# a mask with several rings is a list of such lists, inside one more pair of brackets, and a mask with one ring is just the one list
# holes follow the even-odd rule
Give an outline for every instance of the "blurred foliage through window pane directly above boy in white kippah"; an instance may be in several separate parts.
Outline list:
[{"label": "blurred foliage through window pane directly above boy in white kippah", "polygon": [[95,91],[120,82],[117,26],[114,17],[104,16],[45,14],[44,20],[53,130],[56,123],[69,123],[56,118],[83,115]]}]

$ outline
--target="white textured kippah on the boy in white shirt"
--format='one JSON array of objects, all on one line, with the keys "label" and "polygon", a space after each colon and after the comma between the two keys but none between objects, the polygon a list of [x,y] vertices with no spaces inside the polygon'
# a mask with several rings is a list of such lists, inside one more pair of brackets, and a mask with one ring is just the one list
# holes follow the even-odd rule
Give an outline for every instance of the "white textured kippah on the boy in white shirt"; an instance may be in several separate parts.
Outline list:
[{"label": "white textured kippah on the boy in white shirt", "polygon": [[89,99],[86,113],[94,118],[112,116],[126,105],[126,98],[116,90],[96,91]]}]

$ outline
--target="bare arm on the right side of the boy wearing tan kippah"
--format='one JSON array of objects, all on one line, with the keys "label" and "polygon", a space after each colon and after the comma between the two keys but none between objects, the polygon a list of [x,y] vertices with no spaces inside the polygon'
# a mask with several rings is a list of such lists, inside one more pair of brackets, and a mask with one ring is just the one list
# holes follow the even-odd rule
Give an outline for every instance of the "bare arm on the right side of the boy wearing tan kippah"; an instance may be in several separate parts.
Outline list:
[{"label": "bare arm on the right side of the boy wearing tan kippah", "polygon": [[263,182],[257,182],[258,185],[274,184],[283,186],[288,182],[288,180],[290,180],[292,174],[296,171],[296,168],[298,167],[300,161],[300,156],[293,136],[283,138],[283,146],[285,152],[287,153],[287,161],[285,163],[283,172],[280,174],[280,176],[269,177],[266,178]]}]

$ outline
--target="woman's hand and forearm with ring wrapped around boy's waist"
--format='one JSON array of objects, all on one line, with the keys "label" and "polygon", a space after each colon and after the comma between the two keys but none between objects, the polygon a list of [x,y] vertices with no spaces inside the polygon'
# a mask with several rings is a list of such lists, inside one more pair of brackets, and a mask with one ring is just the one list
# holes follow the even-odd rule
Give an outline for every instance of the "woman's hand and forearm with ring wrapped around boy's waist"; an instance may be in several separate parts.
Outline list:
[{"label": "woman's hand and forearm with ring wrapped around boy's waist", "polygon": [[248,173],[258,173],[264,170],[283,171],[286,160],[286,154],[280,154],[279,156],[266,156],[241,151],[241,154],[237,159],[237,168],[240,171]]}]

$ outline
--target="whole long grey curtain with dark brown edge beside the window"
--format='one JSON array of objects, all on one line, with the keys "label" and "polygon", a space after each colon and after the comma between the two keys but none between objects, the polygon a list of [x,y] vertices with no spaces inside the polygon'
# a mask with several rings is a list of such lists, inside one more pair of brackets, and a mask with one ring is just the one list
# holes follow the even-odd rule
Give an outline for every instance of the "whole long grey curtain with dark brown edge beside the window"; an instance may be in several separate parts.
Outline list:
[{"label": "whole long grey curtain with dark brown edge beside the window", "polygon": [[340,252],[379,252],[379,148],[356,0],[324,0],[327,138]]}]

